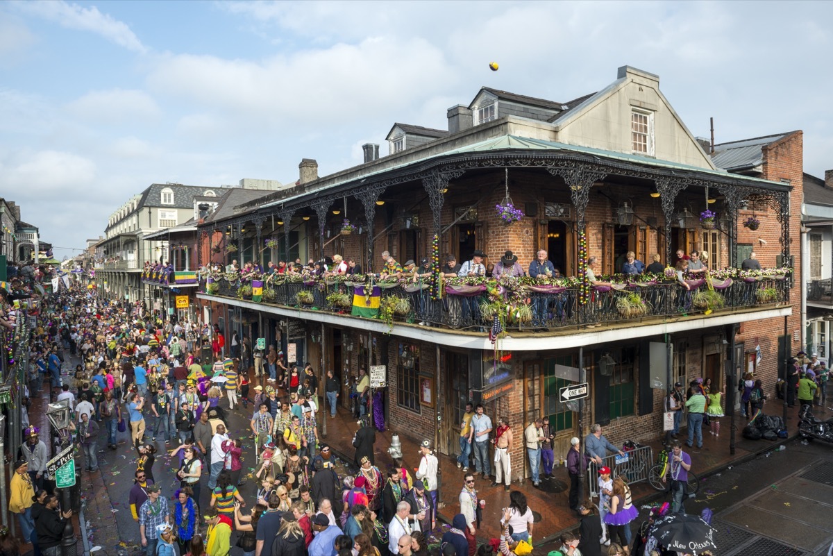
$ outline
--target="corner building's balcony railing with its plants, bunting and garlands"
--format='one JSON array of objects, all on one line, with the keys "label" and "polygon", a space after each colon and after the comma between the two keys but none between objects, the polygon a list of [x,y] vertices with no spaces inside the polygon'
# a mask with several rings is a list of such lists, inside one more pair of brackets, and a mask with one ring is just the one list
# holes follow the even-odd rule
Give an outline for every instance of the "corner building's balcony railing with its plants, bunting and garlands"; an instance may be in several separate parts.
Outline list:
[{"label": "corner building's balcony railing with its plants, bunting and garlands", "polygon": [[[205,278],[201,280],[201,290],[210,295],[252,299],[251,288],[239,279],[224,275],[210,284]],[[446,285],[439,300],[431,296],[427,285],[409,281],[374,285],[380,289],[379,305],[397,308],[398,312],[388,316],[391,322],[427,323],[453,330],[487,330],[496,314],[501,315],[501,325],[506,330],[533,331],[711,315],[789,302],[790,283],[783,275],[715,279],[711,286],[702,279],[687,281],[690,290],[676,281],[657,280],[617,284],[612,288],[591,287],[583,305],[579,302],[581,287],[576,284],[507,286],[484,280],[481,285]],[[287,280],[277,285],[264,284],[260,302],[350,314],[350,305],[334,303],[338,297],[342,302],[352,300],[356,291],[362,290],[363,285],[359,286],[362,287],[343,280]],[[336,293],[342,295],[332,295]],[[392,298],[402,302],[394,304]]]}]

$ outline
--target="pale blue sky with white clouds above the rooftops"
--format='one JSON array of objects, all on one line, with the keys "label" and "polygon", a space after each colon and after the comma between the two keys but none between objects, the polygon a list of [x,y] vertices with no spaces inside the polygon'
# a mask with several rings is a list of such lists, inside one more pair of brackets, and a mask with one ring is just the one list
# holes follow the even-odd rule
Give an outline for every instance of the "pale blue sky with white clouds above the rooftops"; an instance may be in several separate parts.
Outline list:
[{"label": "pale blue sky with white clouds above the rooftops", "polygon": [[[833,168],[833,2],[0,2],[0,196],[57,258],[152,183],[297,180],[480,87],[567,102],[638,67],[695,136]],[[497,72],[489,62],[498,62]]]}]

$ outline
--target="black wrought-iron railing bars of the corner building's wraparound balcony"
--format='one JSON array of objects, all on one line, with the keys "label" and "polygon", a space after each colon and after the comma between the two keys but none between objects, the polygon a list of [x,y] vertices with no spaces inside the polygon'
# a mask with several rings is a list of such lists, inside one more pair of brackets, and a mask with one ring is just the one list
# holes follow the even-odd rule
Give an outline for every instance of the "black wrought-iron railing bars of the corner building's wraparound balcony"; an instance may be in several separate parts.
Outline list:
[{"label": "black wrought-iron railing bars of the corner building's wraparound balcony", "polygon": [[[201,279],[201,290],[206,290],[205,279]],[[242,296],[240,280],[229,282],[220,278],[213,282],[213,294],[232,298],[251,298]],[[403,288],[400,285],[382,289],[382,300],[390,296],[407,298],[410,310],[406,315],[394,315],[393,320],[409,323],[437,325],[454,330],[486,330],[491,326],[491,317],[483,315],[484,303],[488,299],[482,295],[443,295],[441,300],[431,297],[429,290],[418,289],[418,285]],[[700,290],[705,290],[701,286]],[[298,293],[312,293],[312,303],[301,303]],[[789,284],[787,280],[735,280],[726,288],[715,289],[722,306],[713,310],[755,308],[772,306],[789,301]],[[310,282],[286,281],[282,284],[264,284],[262,303],[299,307],[333,312],[349,313],[349,308],[333,306],[327,301],[327,295],[340,292],[352,297],[352,286],[342,282],[326,283],[321,280]],[[766,293],[766,295],[762,295]],[[626,313],[621,308],[621,300],[636,294],[646,303],[641,311]],[[531,318],[522,322],[508,320],[509,330],[553,330],[582,325],[596,325],[623,320],[639,322],[662,317],[702,313],[707,308],[697,304],[696,290],[686,290],[676,282],[663,282],[651,285],[628,285],[622,290],[592,290],[585,305],[579,303],[577,288],[566,288],[558,293],[526,292],[531,308]]]}]

